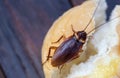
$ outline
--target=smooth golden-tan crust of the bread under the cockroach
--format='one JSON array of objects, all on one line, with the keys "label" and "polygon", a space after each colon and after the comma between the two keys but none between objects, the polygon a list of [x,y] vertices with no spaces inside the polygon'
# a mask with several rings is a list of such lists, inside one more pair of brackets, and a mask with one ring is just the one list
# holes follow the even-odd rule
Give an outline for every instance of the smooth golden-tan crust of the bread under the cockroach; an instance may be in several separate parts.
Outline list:
[{"label": "smooth golden-tan crust of the bread under the cockroach", "polygon": [[[62,39],[59,43],[51,44],[52,42],[57,41],[62,35],[66,38],[73,34],[71,25],[73,26],[75,31],[83,30],[88,22],[90,21],[94,10],[96,8],[96,3],[94,1],[86,1],[80,6],[76,6],[67,12],[65,12],[61,17],[59,17],[49,29],[47,35],[45,36],[43,46],[42,46],[42,62],[44,62],[48,56],[48,50],[50,46],[59,46],[64,39]],[[92,20],[86,32],[89,32],[95,28],[95,21]],[[51,52],[51,56],[53,55],[54,50]],[[65,64],[63,69],[60,71],[58,67],[52,67],[51,59],[43,65],[43,70],[45,74],[45,78],[63,78],[69,73],[70,66],[72,64],[76,64],[82,59],[76,59],[72,62]]]}]

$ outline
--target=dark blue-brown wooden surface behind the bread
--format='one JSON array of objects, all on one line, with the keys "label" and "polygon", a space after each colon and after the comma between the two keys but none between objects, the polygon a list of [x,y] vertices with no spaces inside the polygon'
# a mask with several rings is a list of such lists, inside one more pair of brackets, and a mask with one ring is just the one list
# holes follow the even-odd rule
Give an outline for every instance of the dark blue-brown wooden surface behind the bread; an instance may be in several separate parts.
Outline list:
[{"label": "dark blue-brown wooden surface behind the bread", "polygon": [[83,1],[0,0],[0,78],[44,78],[41,46],[45,34],[63,12]]}]

